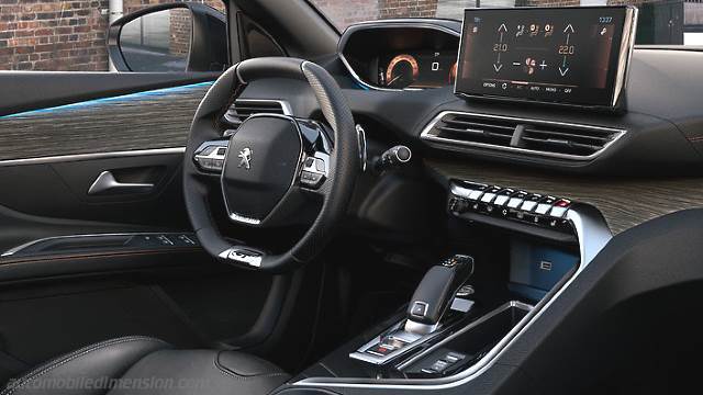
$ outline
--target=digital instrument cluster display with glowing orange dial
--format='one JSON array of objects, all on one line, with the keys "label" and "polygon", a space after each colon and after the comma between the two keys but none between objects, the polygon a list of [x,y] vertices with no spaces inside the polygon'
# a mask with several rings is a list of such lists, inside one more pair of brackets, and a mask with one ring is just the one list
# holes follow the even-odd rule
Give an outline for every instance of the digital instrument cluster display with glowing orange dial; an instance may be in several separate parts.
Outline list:
[{"label": "digital instrument cluster display with glowing orange dial", "polygon": [[456,52],[420,50],[382,56],[378,83],[383,88],[439,88],[457,77]]}]

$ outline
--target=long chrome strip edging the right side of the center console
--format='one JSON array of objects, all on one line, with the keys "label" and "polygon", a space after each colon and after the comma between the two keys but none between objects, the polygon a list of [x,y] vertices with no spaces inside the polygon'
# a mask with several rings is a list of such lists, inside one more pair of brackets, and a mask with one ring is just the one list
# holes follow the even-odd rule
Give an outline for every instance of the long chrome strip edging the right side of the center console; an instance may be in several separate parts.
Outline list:
[{"label": "long chrome strip edging the right side of the center console", "polygon": [[499,341],[483,358],[469,369],[455,375],[443,379],[331,379],[310,377],[293,383],[294,386],[313,387],[343,387],[343,388],[365,388],[365,390],[447,390],[466,384],[479,375],[486,373],[496,360],[506,352],[534,323],[554,304],[556,300],[573,283],[573,281],[591,263],[593,258],[612,239],[612,234],[605,224],[605,219],[598,210],[587,205],[578,205],[567,213],[567,219],[571,221],[579,240],[581,264],[577,271],[567,280],[554,296],[545,301],[544,306],[537,305],[520,323]]}]

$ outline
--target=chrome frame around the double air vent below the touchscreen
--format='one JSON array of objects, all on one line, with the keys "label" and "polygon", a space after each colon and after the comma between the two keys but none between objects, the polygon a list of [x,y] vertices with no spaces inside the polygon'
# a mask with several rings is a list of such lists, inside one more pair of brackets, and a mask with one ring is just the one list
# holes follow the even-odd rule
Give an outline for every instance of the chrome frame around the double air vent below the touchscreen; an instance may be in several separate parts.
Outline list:
[{"label": "chrome frame around the double air vent below the touchscreen", "polygon": [[[477,143],[477,142],[464,142],[464,140],[456,140],[451,138],[439,137],[437,136],[436,133],[433,133],[433,128],[435,127],[435,125],[438,122],[440,122],[442,119],[446,115],[467,115],[467,116],[475,116],[475,117],[524,122],[524,123],[532,123],[537,125],[539,124],[556,125],[556,126],[581,128],[581,129],[603,131],[603,132],[615,134],[615,138],[613,138],[612,140],[607,142],[605,145],[603,145],[603,148],[588,156],[558,154],[558,153],[550,153],[550,151],[543,151],[543,150],[535,150],[535,149],[517,148],[517,147],[511,147],[511,146],[499,146],[499,145]],[[461,150],[460,146],[468,146],[468,147],[489,148],[489,149],[503,150],[503,151],[517,153],[517,154],[538,155],[538,156],[551,157],[551,158],[558,158],[558,159],[592,160],[599,157],[601,154],[603,154],[607,148],[610,148],[613,144],[615,144],[615,142],[622,138],[626,133],[627,131],[620,129],[620,128],[577,124],[577,123],[569,123],[569,122],[535,120],[535,119],[531,120],[531,119],[524,119],[524,117],[517,117],[517,116],[482,114],[482,113],[473,113],[473,112],[465,112],[465,111],[443,111],[439,114],[437,114],[434,119],[432,119],[429,123],[427,123],[427,125],[423,128],[422,133],[420,134],[420,138],[428,142],[429,145],[436,146],[439,148],[449,148],[449,149],[454,148],[454,149]]]}]

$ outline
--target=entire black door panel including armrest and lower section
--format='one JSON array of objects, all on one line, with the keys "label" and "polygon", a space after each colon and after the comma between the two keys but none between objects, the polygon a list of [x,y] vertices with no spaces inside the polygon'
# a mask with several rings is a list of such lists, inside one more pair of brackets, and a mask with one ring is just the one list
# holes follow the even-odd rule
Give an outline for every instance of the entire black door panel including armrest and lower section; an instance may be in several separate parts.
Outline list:
[{"label": "entire black door panel including armrest and lower section", "polygon": [[[148,236],[191,232],[182,153],[215,77],[0,72],[0,381],[114,336],[254,346],[286,326],[289,276]],[[107,171],[153,187],[89,193]]]}]

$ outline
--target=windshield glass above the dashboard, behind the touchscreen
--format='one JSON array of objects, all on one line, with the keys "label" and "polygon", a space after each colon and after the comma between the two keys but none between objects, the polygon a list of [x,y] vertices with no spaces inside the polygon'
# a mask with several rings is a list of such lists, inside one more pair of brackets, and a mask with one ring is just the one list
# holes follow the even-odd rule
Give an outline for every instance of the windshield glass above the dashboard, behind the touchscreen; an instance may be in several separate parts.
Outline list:
[{"label": "windshield glass above the dashboard, behind the touchscreen", "polygon": [[703,0],[309,0],[339,30],[393,18],[462,20],[465,8],[632,4],[639,8],[637,44],[703,45]]}]

